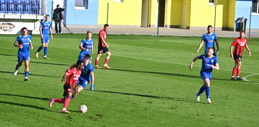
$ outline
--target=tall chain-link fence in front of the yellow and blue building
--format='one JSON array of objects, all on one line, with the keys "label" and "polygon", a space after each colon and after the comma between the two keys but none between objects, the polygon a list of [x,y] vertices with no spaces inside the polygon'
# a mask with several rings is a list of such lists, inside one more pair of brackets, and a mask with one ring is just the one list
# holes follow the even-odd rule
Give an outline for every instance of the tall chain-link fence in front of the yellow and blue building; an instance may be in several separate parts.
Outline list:
[{"label": "tall chain-link fence in front of the yellow and blue building", "polygon": [[[51,4],[47,3],[47,5]],[[156,9],[157,13],[154,13],[154,8],[158,8],[157,6],[131,6],[132,10],[139,10],[141,14],[125,15],[123,11],[118,10],[129,8],[129,5],[118,7],[114,4],[106,4],[106,10],[101,9],[103,12],[99,13],[98,6],[100,8],[100,4],[89,4],[88,9],[92,10],[91,13],[78,11],[75,14],[74,4],[67,4],[67,8],[65,8],[67,17],[65,16],[65,19],[62,20],[66,27],[62,27],[62,33],[86,34],[88,30],[91,30],[92,33],[98,34],[103,29],[103,25],[108,23],[110,27],[107,34],[202,36],[208,32],[207,26],[212,25],[213,33],[218,37],[239,37],[239,31],[243,27],[241,26],[243,23],[236,22],[245,15],[247,19],[245,24],[246,38],[259,37],[259,24],[257,23],[259,16],[251,15],[251,8],[216,8],[215,6],[209,6],[208,8],[167,8],[160,6],[159,9]],[[198,13],[191,12],[192,9]],[[208,9],[211,10],[210,15],[201,18],[204,10]],[[215,9],[222,12],[215,11]],[[47,6],[47,14],[53,14],[53,11],[50,12],[49,10],[52,10],[51,6]],[[153,12],[151,13],[151,11]],[[102,13],[101,19],[100,13]],[[91,19],[91,17],[96,16],[99,17]],[[123,21],[129,19],[128,17],[131,20],[125,24]],[[193,21],[193,19],[199,19],[200,21]],[[50,20],[52,20],[52,17]],[[202,22],[206,24],[202,24]],[[52,24],[52,32],[55,33],[54,22]]]}]

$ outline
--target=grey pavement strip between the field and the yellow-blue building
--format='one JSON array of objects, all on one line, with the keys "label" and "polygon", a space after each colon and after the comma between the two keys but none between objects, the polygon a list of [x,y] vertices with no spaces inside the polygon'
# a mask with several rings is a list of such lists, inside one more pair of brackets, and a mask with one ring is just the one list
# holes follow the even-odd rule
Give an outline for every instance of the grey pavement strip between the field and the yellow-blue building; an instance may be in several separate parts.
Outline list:
[{"label": "grey pavement strip between the field and the yellow-blue building", "polygon": [[[87,28],[87,27],[62,27],[61,33],[74,33],[74,34],[86,34],[88,30],[91,30],[93,34],[98,34],[103,27]],[[69,32],[70,31],[70,32]],[[140,27],[140,28],[113,28],[109,27],[107,34],[135,34],[135,35],[157,35],[158,28],[154,27]],[[207,33],[207,29],[195,30],[195,29],[175,29],[175,28],[162,28],[159,27],[159,36],[172,35],[172,36],[202,36]],[[52,33],[55,33],[55,27],[52,27]],[[214,30],[213,30],[214,33]],[[223,31],[215,30],[217,37],[239,37],[239,32],[235,31]],[[246,38],[249,37],[249,29],[246,29]],[[259,38],[259,29],[251,29],[250,38]]]}]

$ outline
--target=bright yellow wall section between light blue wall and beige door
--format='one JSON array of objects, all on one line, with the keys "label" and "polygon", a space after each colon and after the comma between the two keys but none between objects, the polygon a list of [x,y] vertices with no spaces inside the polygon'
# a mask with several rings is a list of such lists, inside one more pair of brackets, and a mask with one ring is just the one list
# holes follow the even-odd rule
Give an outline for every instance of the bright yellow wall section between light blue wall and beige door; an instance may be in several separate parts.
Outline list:
[{"label": "bright yellow wall section between light blue wall and beige door", "polygon": [[107,22],[108,3],[109,25],[141,25],[141,0],[124,0],[124,3],[114,3],[114,0],[99,0],[98,24]]}]

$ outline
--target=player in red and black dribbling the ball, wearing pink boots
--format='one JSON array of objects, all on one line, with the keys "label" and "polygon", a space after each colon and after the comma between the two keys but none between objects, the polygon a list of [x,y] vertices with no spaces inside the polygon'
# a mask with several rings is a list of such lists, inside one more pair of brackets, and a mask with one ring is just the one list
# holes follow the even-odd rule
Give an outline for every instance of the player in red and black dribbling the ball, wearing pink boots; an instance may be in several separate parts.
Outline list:
[{"label": "player in red and black dribbling the ball, wearing pink boots", "polygon": [[61,80],[62,82],[64,82],[65,79],[67,78],[67,81],[65,82],[65,85],[63,86],[64,98],[63,99],[62,98],[60,98],[60,99],[50,98],[50,107],[52,107],[53,102],[64,103],[63,110],[61,111],[61,113],[66,113],[66,114],[69,113],[69,111],[67,111],[67,105],[72,98],[73,89],[75,90],[75,93],[77,93],[76,83],[81,75],[81,70],[83,69],[83,66],[84,66],[84,61],[78,60],[76,67],[66,71],[65,75],[63,76],[63,78]]}]

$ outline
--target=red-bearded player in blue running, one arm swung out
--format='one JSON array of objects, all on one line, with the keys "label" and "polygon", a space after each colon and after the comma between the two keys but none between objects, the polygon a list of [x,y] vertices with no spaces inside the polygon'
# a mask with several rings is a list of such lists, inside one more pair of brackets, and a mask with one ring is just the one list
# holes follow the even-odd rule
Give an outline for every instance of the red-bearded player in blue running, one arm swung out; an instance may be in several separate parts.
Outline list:
[{"label": "red-bearded player in blue running, one arm swung out", "polygon": [[[190,64],[190,70],[192,70],[192,65],[197,59],[202,59],[202,69],[200,71],[202,80],[203,80],[203,85],[200,88],[200,91],[196,94],[197,96],[197,101],[200,101],[200,95],[205,91],[206,96],[207,96],[207,102],[211,103],[210,98],[209,98],[209,86],[210,86],[210,80],[212,77],[212,70],[213,68],[216,70],[219,70],[219,62],[216,56],[213,56],[213,47],[208,47],[208,54],[196,56],[193,60],[192,63]],[[214,66],[215,65],[215,66]]]}]

